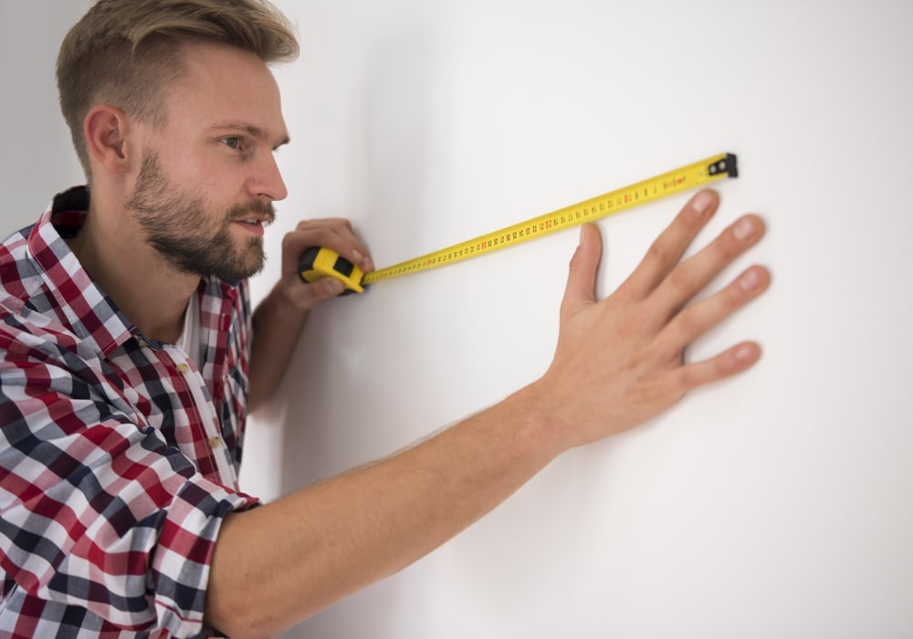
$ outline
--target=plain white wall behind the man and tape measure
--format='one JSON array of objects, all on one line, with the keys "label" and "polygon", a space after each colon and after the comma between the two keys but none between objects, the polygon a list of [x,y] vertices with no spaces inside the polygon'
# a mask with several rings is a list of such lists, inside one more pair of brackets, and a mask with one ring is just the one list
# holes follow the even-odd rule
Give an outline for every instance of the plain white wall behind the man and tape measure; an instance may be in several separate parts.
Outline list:
[{"label": "plain white wall behind the man and tape measure", "polygon": [[[18,5],[0,5],[4,23]],[[767,238],[726,275],[754,261],[773,274],[764,298],[687,352],[756,339],[752,371],[559,458],[286,639],[913,636],[913,4],[278,5],[303,56],[277,69],[294,141],[279,154],[290,194],[274,257],[300,218],[341,215],[383,267],[735,152],[740,177],[718,183],[702,238],[762,215]],[[40,25],[22,31],[56,48],[65,26]],[[10,84],[19,67],[3,47],[8,105],[30,85]],[[16,59],[49,73],[37,54]],[[16,113],[17,131],[58,117]],[[61,131],[53,148],[68,152]],[[40,208],[70,174],[26,165],[32,138],[14,141],[5,194],[37,167]],[[600,222],[601,294],[686,200]],[[275,498],[538,378],[576,241],[562,232],[317,310],[280,397],[251,424],[244,487]],[[277,272],[273,259],[257,296]]]}]

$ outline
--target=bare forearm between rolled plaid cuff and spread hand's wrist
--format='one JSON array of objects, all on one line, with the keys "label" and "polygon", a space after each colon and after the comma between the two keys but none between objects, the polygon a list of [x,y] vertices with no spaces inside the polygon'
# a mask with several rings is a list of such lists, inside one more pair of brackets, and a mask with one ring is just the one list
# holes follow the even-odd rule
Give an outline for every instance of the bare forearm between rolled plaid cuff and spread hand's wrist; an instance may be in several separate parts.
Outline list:
[{"label": "bare forearm between rolled plaid cuff and spread hand's wrist", "polygon": [[403,453],[230,516],[207,622],[279,632],[452,538],[560,452],[530,418],[536,397],[526,389]]}]

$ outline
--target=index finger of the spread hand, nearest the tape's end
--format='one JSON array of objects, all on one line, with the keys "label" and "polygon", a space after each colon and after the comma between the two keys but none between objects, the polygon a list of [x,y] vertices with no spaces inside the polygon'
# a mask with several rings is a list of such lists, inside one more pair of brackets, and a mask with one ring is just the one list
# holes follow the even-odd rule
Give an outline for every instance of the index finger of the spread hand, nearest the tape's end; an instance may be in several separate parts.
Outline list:
[{"label": "index finger of the spread hand, nearest the tape's end", "polygon": [[619,289],[636,299],[642,299],[656,289],[684,255],[698,231],[716,213],[718,204],[719,196],[710,189],[692,197],[672,224],[656,238]]}]

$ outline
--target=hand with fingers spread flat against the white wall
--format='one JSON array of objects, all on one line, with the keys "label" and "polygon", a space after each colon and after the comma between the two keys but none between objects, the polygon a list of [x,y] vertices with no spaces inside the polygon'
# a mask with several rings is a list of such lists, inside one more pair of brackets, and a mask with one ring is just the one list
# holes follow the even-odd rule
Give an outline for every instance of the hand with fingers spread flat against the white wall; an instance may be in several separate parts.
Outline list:
[{"label": "hand with fingers spread flat against the white wall", "polygon": [[764,235],[745,215],[696,255],[687,246],[716,213],[718,195],[696,194],[612,295],[594,297],[602,253],[599,231],[584,225],[561,304],[554,360],[540,380],[561,449],[623,432],[665,411],[688,391],[745,371],[760,347],[741,342],[706,361],[686,362],[687,346],[757,298],[770,284],[753,266],[718,292],[698,294]]}]

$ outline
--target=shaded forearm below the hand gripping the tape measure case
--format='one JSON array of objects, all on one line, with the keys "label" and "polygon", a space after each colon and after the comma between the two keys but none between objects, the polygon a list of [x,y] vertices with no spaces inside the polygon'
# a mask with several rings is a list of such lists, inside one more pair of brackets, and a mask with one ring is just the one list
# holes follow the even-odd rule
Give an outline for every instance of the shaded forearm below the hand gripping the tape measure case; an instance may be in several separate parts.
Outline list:
[{"label": "shaded forearm below the hand gripping the tape measure case", "polygon": [[267,402],[282,381],[308,314],[308,310],[299,309],[284,299],[278,287],[273,288],[254,311],[247,398],[251,413]]}]

